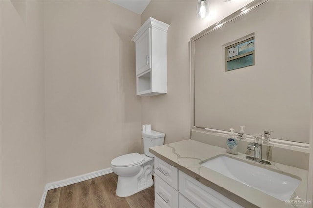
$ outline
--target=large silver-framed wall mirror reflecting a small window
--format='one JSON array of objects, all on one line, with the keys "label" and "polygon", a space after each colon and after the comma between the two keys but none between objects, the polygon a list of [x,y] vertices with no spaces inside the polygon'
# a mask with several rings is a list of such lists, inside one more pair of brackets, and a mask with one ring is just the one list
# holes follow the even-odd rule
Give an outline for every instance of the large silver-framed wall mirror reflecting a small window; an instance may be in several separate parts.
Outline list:
[{"label": "large silver-framed wall mirror reflecting a small window", "polygon": [[[191,39],[195,126],[309,143],[312,2],[252,2]],[[226,48],[251,37],[254,63],[227,71]]]}]

